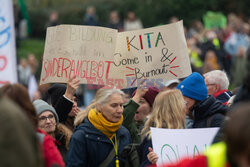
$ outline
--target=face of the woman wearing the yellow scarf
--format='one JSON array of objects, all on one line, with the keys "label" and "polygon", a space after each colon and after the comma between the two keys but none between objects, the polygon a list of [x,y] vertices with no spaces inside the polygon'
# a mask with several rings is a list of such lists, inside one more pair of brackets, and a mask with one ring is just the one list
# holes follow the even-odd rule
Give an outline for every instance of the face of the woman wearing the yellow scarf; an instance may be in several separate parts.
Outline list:
[{"label": "face of the woman wearing the yellow scarf", "polygon": [[123,113],[123,97],[120,94],[112,94],[107,103],[99,106],[99,111],[109,122],[119,122]]}]

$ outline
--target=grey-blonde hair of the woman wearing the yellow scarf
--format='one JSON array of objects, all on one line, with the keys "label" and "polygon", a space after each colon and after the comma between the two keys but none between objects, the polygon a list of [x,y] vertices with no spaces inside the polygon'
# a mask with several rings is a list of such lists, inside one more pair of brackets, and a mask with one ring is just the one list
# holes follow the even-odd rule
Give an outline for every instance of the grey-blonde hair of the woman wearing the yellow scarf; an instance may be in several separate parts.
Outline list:
[{"label": "grey-blonde hair of the woman wearing the yellow scarf", "polygon": [[109,101],[109,97],[113,94],[119,94],[124,98],[124,93],[120,89],[99,89],[96,92],[95,99],[91,102],[89,106],[85,108],[84,111],[79,112],[75,118],[74,125],[78,126],[82,121],[88,116],[91,109],[95,108],[97,104],[103,105]]}]

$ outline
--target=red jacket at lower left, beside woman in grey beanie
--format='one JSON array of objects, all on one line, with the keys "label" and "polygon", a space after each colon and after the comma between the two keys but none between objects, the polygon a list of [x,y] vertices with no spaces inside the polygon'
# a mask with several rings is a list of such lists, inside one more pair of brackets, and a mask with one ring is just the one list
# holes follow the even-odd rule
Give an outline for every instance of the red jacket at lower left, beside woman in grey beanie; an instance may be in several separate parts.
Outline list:
[{"label": "red jacket at lower left, beside woman in grey beanie", "polygon": [[41,129],[38,129],[37,132],[44,135],[42,150],[45,166],[51,167],[52,165],[58,165],[60,167],[65,167],[63,158],[55,145],[54,139]]}]

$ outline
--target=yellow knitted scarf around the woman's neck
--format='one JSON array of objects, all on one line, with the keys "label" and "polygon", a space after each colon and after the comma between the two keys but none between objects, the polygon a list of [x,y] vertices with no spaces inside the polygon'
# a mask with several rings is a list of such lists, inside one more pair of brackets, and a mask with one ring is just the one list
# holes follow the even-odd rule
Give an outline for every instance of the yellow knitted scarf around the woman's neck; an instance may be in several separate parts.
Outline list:
[{"label": "yellow knitted scarf around the woman's neck", "polygon": [[96,108],[93,108],[89,111],[88,119],[91,124],[103,134],[105,134],[110,140],[115,136],[115,133],[122,125],[123,116],[117,123],[109,122],[106,120],[103,115],[97,111]]}]

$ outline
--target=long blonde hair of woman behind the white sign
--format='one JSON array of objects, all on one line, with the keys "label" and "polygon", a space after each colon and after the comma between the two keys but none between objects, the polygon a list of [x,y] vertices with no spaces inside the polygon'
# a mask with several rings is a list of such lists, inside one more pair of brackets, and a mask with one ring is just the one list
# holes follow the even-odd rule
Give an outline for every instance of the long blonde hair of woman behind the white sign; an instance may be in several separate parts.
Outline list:
[{"label": "long blonde hair of woman behind the white sign", "polygon": [[141,132],[142,140],[146,136],[151,139],[150,127],[185,128],[185,102],[179,90],[167,90],[156,96],[152,113]]}]

